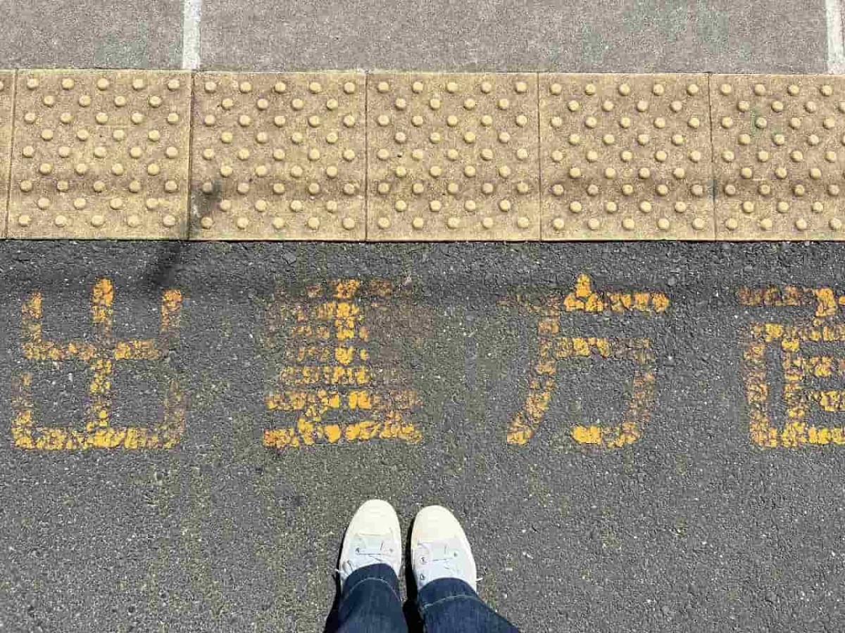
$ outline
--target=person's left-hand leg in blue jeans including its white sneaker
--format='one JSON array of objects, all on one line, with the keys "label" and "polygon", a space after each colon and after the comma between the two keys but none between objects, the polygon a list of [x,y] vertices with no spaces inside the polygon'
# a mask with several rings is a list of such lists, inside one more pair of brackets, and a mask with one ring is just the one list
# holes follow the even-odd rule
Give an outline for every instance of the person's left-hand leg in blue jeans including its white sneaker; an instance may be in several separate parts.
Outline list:
[{"label": "person's left-hand leg in blue jeans including its white sneaker", "polygon": [[398,574],[402,565],[399,519],[389,503],[363,504],[343,538],[341,599],[330,631],[407,633]]}]

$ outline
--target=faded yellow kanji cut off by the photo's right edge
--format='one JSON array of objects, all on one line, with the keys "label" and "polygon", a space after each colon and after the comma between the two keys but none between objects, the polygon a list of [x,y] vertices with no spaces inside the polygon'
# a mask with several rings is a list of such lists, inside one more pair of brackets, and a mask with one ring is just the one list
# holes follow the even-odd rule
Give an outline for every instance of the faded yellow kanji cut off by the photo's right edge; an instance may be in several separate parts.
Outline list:
[{"label": "faded yellow kanji cut off by the photo's right edge", "polygon": [[[800,308],[814,311],[810,319],[798,322],[755,322],[744,337],[743,369],[745,397],[748,403],[751,440],[764,448],[828,446],[845,444],[841,425],[811,424],[810,413],[830,415],[845,412],[845,390],[815,389],[809,381],[845,379],[845,357],[834,354],[808,354],[804,344],[845,344],[845,323],[839,316],[845,296],[831,288],[743,288],[739,303],[749,307]],[[786,419],[778,427],[771,420],[771,397],[767,350],[780,349],[782,398]],[[771,359],[771,357],[769,357]]]}]

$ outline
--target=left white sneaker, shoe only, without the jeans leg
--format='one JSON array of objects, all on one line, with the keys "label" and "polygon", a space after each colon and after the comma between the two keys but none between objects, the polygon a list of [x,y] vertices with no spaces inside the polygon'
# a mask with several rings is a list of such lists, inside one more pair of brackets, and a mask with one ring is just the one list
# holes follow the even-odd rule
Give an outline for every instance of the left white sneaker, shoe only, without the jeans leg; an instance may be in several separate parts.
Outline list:
[{"label": "left white sneaker, shoe only, without the jeans leg", "polygon": [[352,572],[368,565],[390,565],[396,576],[402,566],[402,536],[399,517],[387,501],[365,501],[355,512],[341,548],[341,589]]}]

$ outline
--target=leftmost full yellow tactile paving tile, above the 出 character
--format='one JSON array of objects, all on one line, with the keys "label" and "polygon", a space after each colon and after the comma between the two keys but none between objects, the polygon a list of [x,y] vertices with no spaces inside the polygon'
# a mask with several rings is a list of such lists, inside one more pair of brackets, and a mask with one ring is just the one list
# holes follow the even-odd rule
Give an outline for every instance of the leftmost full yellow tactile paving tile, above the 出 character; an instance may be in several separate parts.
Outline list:
[{"label": "leftmost full yellow tactile paving tile, above the \u51fa character", "polygon": [[190,74],[19,71],[8,235],[187,235]]}]

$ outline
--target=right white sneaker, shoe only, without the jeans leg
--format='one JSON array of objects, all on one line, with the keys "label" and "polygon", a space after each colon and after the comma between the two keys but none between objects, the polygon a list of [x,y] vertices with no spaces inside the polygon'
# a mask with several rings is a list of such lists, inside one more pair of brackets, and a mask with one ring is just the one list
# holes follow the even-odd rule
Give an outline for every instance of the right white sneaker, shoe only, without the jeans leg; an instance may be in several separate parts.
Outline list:
[{"label": "right white sneaker, shoe only, without the jeans leg", "polygon": [[477,589],[477,571],[461,523],[442,506],[417,513],[411,533],[411,559],[417,590],[439,578],[458,578]]}]

